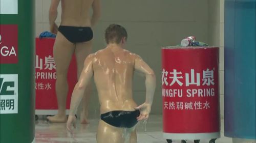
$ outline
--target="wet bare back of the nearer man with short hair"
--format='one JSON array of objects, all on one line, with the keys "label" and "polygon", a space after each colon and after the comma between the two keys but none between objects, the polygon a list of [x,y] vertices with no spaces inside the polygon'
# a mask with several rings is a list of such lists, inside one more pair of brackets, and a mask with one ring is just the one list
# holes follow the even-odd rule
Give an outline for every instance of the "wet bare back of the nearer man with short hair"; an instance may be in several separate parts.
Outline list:
[{"label": "wet bare back of the nearer man with short hair", "polygon": [[121,48],[105,48],[92,54],[94,81],[101,113],[134,110],[132,82],[135,54]]}]

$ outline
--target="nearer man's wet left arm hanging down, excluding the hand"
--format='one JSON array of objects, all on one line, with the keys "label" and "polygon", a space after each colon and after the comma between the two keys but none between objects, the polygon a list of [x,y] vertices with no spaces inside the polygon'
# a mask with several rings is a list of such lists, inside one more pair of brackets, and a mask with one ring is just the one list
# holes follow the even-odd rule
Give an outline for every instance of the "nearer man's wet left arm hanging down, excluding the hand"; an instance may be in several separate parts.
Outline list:
[{"label": "nearer man's wet left arm hanging down, excluding the hand", "polygon": [[79,80],[75,85],[72,93],[69,116],[74,116],[77,107],[83,97],[84,90],[93,76],[93,55],[90,54],[86,61],[84,61],[84,67],[80,74]]}]

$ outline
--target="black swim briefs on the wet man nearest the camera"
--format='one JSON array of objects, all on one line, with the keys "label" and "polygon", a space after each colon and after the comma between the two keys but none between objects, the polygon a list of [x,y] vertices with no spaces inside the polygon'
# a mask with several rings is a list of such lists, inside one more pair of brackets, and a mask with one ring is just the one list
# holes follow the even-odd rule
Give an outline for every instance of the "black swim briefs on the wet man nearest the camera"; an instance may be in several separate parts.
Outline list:
[{"label": "black swim briefs on the wet man nearest the camera", "polygon": [[114,127],[120,128],[132,128],[135,126],[138,121],[137,117],[139,117],[140,111],[110,111],[106,113],[102,113],[101,120],[105,123],[108,123]]}]

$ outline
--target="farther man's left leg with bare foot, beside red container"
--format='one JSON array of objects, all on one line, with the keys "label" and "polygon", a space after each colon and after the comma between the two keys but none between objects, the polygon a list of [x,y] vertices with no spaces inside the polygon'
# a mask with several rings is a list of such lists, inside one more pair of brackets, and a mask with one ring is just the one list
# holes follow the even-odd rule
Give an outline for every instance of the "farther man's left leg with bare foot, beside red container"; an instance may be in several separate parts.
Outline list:
[{"label": "farther man's left leg with bare foot, beside red container", "polygon": [[50,122],[66,122],[66,99],[68,94],[67,73],[74,52],[75,44],[68,41],[60,32],[53,47],[53,56],[56,64],[56,95],[58,100],[58,113],[47,117]]}]

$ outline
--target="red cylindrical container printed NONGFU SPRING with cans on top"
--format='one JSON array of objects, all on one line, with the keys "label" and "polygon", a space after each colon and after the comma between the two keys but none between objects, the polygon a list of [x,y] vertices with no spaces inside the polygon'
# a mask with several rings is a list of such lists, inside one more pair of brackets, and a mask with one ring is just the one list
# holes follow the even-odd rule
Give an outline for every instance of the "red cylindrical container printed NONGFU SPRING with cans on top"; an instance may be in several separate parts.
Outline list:
[{"label": "red cylindrical container printed NONGFU SPRING with cans on top", "polygon": [[162,48],[163,136],[220,137],[219,48]]}]

